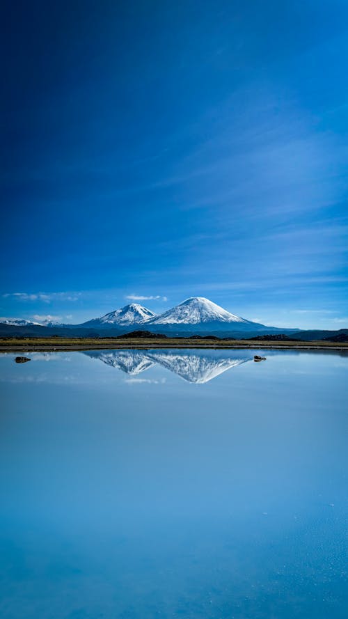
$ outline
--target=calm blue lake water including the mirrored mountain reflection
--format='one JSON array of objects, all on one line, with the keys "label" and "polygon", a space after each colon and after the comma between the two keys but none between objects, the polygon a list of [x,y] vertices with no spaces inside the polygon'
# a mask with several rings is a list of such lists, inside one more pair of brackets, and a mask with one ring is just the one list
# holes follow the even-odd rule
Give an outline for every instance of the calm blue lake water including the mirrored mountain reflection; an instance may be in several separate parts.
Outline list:
[{"label": "calm blue lake water including the mirrored mountain reflection", "polygon": [[347,617],[348,355],[0,356],[1,619]]}]

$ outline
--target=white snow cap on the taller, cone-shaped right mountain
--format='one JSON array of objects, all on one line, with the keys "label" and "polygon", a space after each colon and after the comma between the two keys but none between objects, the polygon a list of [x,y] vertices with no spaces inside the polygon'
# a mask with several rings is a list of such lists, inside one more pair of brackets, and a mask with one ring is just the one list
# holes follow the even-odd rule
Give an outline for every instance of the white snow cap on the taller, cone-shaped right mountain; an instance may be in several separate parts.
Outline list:
[{"label": "white snow cap on the taller, cone-shaped right mountain", "polygon": [[235,316],[205,297],[190,297],[163,314],[152,318],[150,324],[200,324],[202,322],[238,322],[249,324],[250,321]]}]

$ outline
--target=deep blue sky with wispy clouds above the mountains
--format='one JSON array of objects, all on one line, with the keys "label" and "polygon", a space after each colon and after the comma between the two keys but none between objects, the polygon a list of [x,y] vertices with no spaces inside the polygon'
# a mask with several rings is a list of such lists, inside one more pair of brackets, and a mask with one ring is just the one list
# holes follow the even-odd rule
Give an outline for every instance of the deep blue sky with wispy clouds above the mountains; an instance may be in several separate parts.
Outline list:
[{"label": "deep blue sky with wispy clouds above the mountains", "polygon": [[347,1],[15,4],[1,316],[348,327]]}]

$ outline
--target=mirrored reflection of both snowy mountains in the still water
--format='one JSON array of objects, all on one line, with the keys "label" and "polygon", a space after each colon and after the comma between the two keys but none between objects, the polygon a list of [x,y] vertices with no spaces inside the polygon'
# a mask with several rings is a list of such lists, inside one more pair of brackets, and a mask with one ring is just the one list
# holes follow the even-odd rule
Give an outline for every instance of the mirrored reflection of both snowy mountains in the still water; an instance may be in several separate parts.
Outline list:
[{"label": "mirrored reflection of both snowy mountains in the still water", "polygon": [[196,384],[209,382],[226,370],[252,360],[250,353],[242,350],[237,355],[230,350],[93,350],[84,354],[132,376],[159,364]]}]

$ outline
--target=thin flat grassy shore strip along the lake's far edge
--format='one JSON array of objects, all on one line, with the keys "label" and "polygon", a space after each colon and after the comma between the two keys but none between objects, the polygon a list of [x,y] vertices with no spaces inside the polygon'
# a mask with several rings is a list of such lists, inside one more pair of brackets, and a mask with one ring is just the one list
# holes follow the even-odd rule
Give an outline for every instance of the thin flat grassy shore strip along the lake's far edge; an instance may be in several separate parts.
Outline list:
[{"label": "thin flat grassy shore strip along the lake's far edge", "polygon": [[348,343],[282,342],[274,340],[191,340],[184,338],[0,338],[0,352],[54,352],[67,350],[122,350],[136,348],[229,349],[274,348],[278,350],[347,350]]}]

